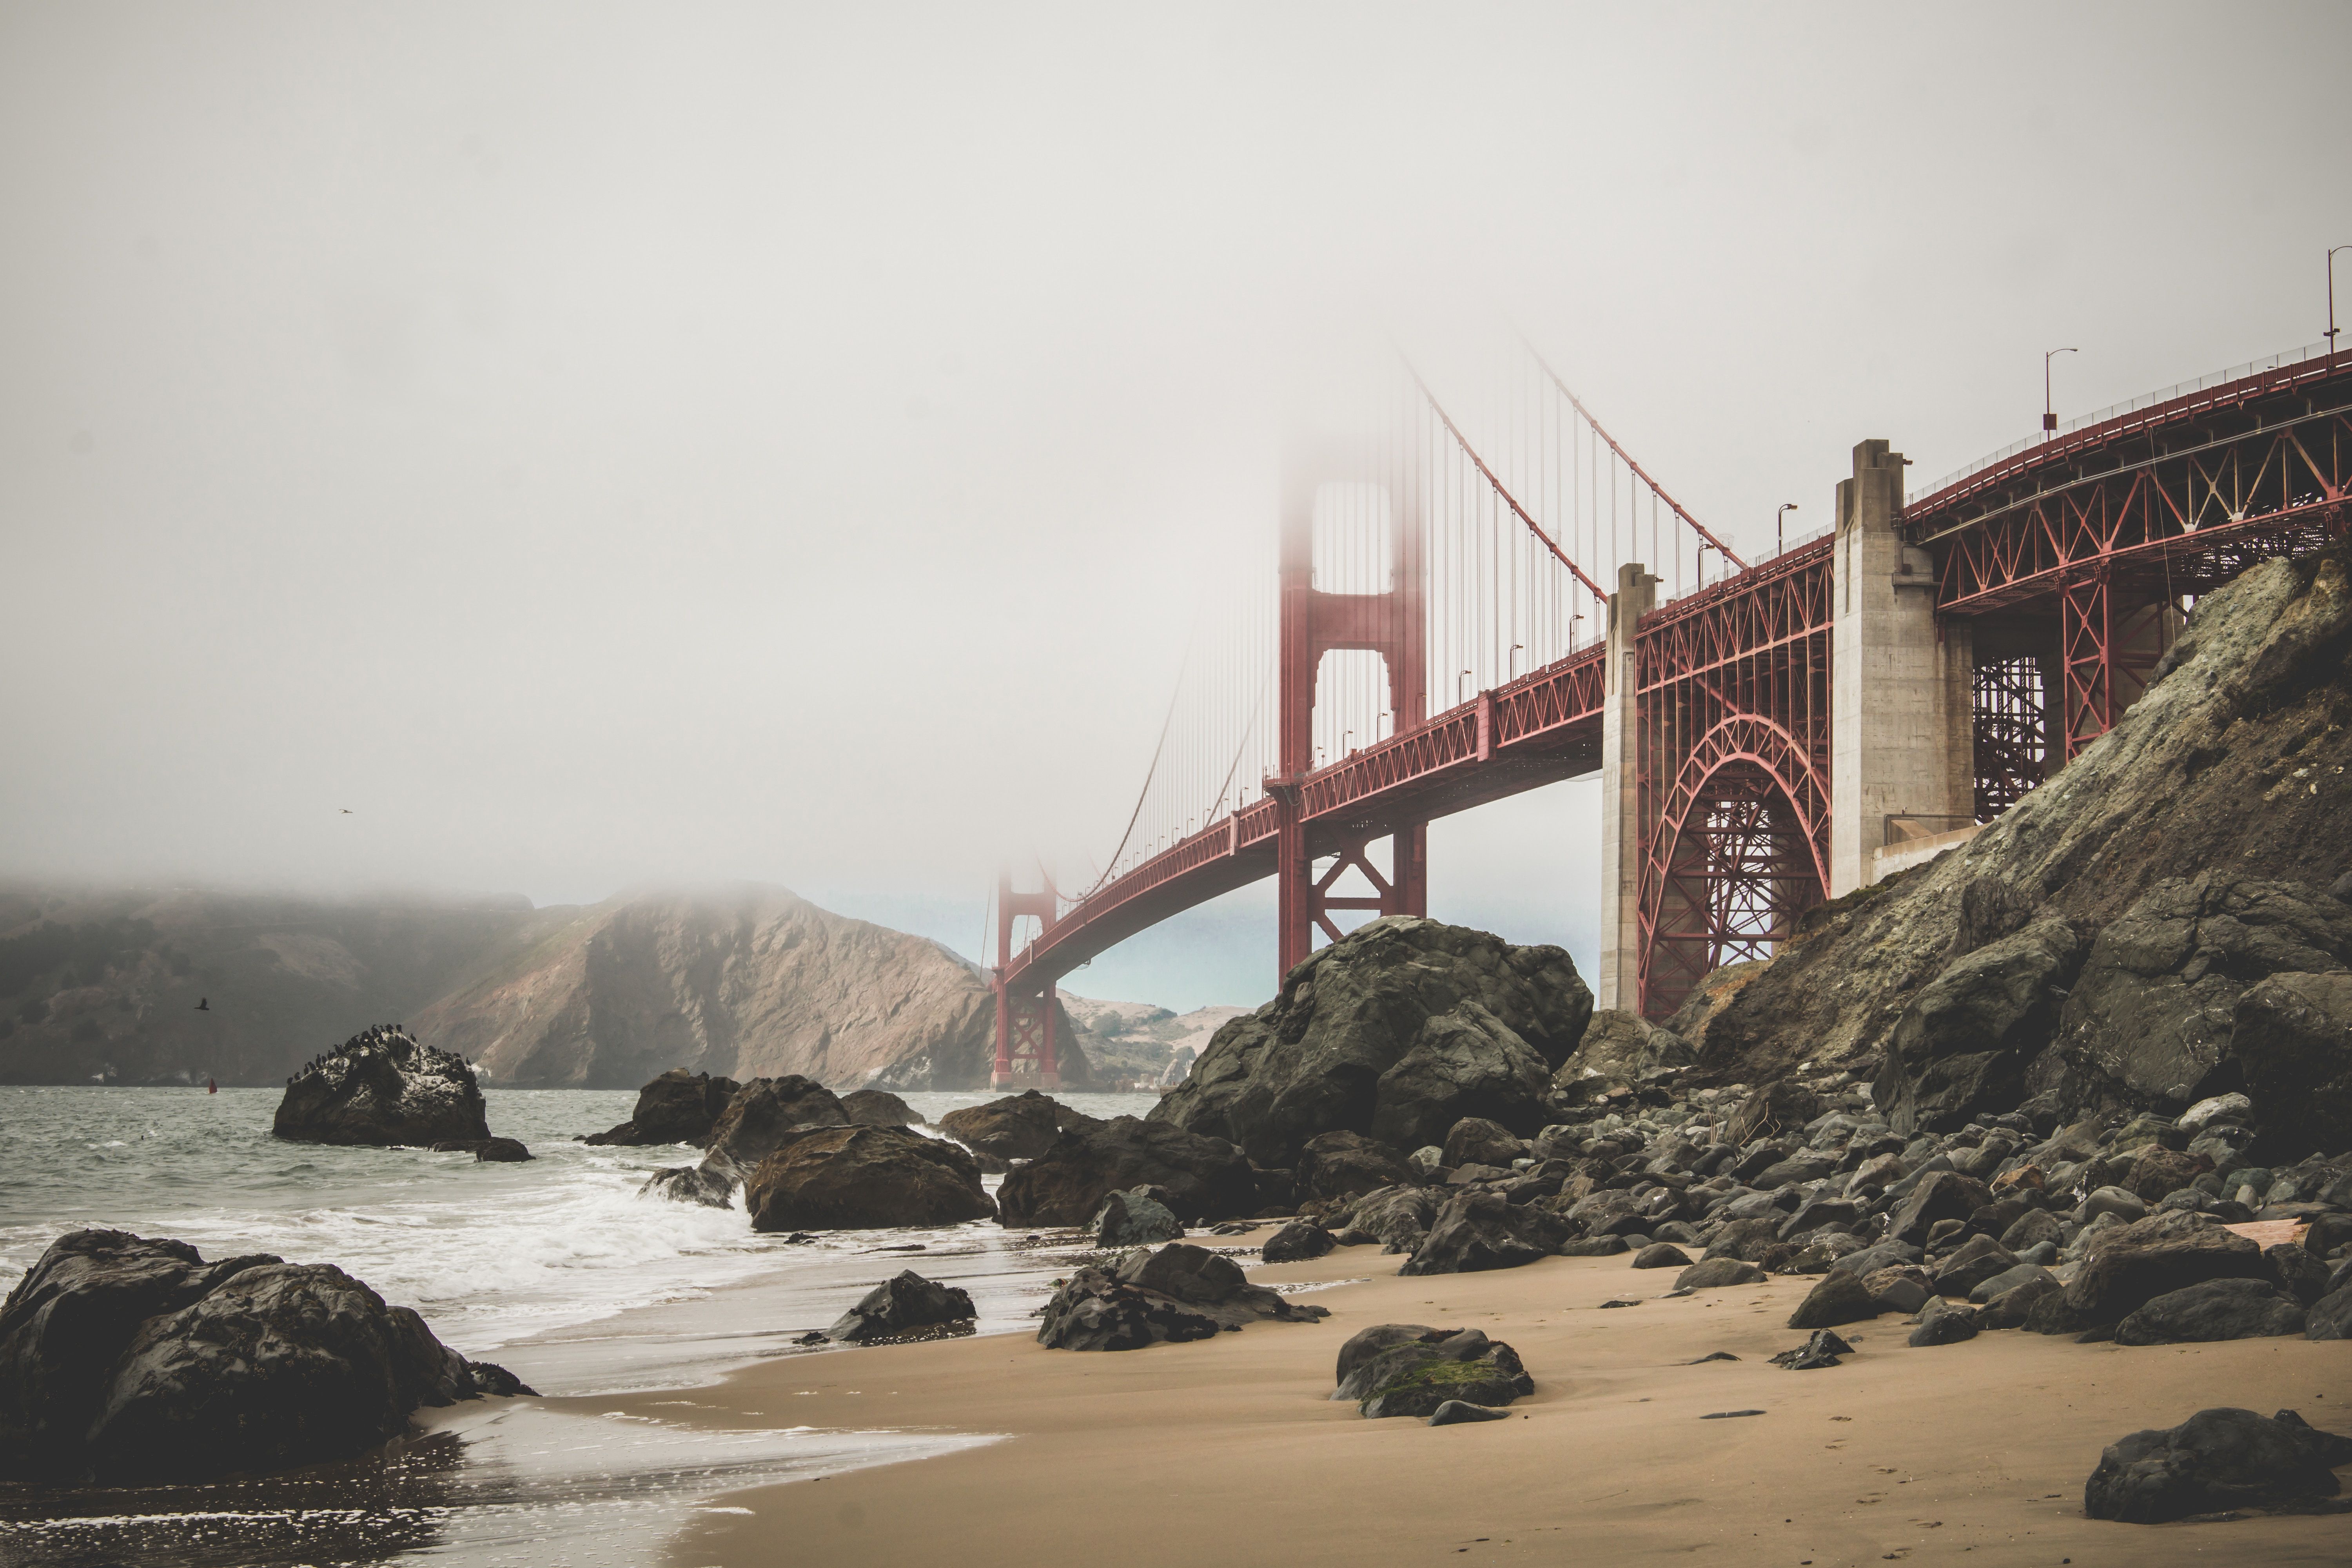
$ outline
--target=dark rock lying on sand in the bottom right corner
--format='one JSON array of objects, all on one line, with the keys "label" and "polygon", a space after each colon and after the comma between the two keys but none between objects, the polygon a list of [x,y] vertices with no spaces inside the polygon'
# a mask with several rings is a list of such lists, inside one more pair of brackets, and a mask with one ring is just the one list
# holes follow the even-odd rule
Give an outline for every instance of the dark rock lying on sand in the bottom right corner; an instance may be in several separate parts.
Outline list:
[{"label": "dark rock lying on sand in the bottom right corner", "polygon": [[2314,1432],[2293,1410],[2199,1410],[2178,1427],[2133,1432],[2098,1455],[2082,1512],[2164,1523],[2227,1509],[2310,1505],[2340,1490],[2352,1439]]}]

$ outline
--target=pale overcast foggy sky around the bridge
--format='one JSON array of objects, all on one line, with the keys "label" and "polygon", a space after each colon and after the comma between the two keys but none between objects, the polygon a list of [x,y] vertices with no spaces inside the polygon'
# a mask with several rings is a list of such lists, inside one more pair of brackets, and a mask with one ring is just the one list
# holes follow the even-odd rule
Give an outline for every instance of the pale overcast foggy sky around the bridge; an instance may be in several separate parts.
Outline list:
[{"label": "pale overcast foggy sky around the bridge", "polygon": [[[2079,414],[2314,341],[2347,56],[2343,5],[0,5],[0,872],[753,877],[971,952],[1002,853],[1115,839],[1322,346],[1512,317],[1755,545],[1863,437],[2027,435],[2044,348]],[[1592,835],[1442,823],[1432,912],[1590,964]],[[1070,987],[1258,1001],[1270,898]]]}]

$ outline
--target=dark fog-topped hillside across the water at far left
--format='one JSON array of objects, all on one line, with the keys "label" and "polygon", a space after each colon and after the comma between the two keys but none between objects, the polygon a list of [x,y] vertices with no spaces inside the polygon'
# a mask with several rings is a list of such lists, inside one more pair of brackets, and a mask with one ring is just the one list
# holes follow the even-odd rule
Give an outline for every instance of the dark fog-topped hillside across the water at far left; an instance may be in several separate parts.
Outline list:
[{"label": "dark fog-topped hillside across the water at far left", "polygon": [[275,1084],[362,1025],[414,1020],[569,914],[522,896],[0,884],[0,1084]]}]

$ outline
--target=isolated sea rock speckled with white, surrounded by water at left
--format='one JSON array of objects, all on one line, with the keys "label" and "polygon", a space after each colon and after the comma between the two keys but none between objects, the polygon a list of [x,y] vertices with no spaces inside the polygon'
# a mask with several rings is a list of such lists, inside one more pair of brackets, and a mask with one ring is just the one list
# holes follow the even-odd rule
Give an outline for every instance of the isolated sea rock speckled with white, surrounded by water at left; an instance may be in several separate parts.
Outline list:
[{"label": "isolated sea rock speckled with white, surrounded by water at left", "polygon": [[270,1131],[294,1143],[430,1147],[482,1143],[489,1119],[463,1056],[379,1025],[294,1074]]}]

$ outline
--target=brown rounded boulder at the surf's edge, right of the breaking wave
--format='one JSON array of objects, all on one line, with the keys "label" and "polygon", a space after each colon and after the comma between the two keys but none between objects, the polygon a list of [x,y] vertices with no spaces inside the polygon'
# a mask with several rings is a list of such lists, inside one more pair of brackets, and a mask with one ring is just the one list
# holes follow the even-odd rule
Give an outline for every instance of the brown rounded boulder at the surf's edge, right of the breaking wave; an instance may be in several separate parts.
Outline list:
[{"label": "brown rounded boulder at the surf's edge, right of the breaking wave", "polygon": [[743,1182],[753,1229],[873,1229],[990,1220],[981,1166],[946,1138],[903,1126],[821,1126]]}]

